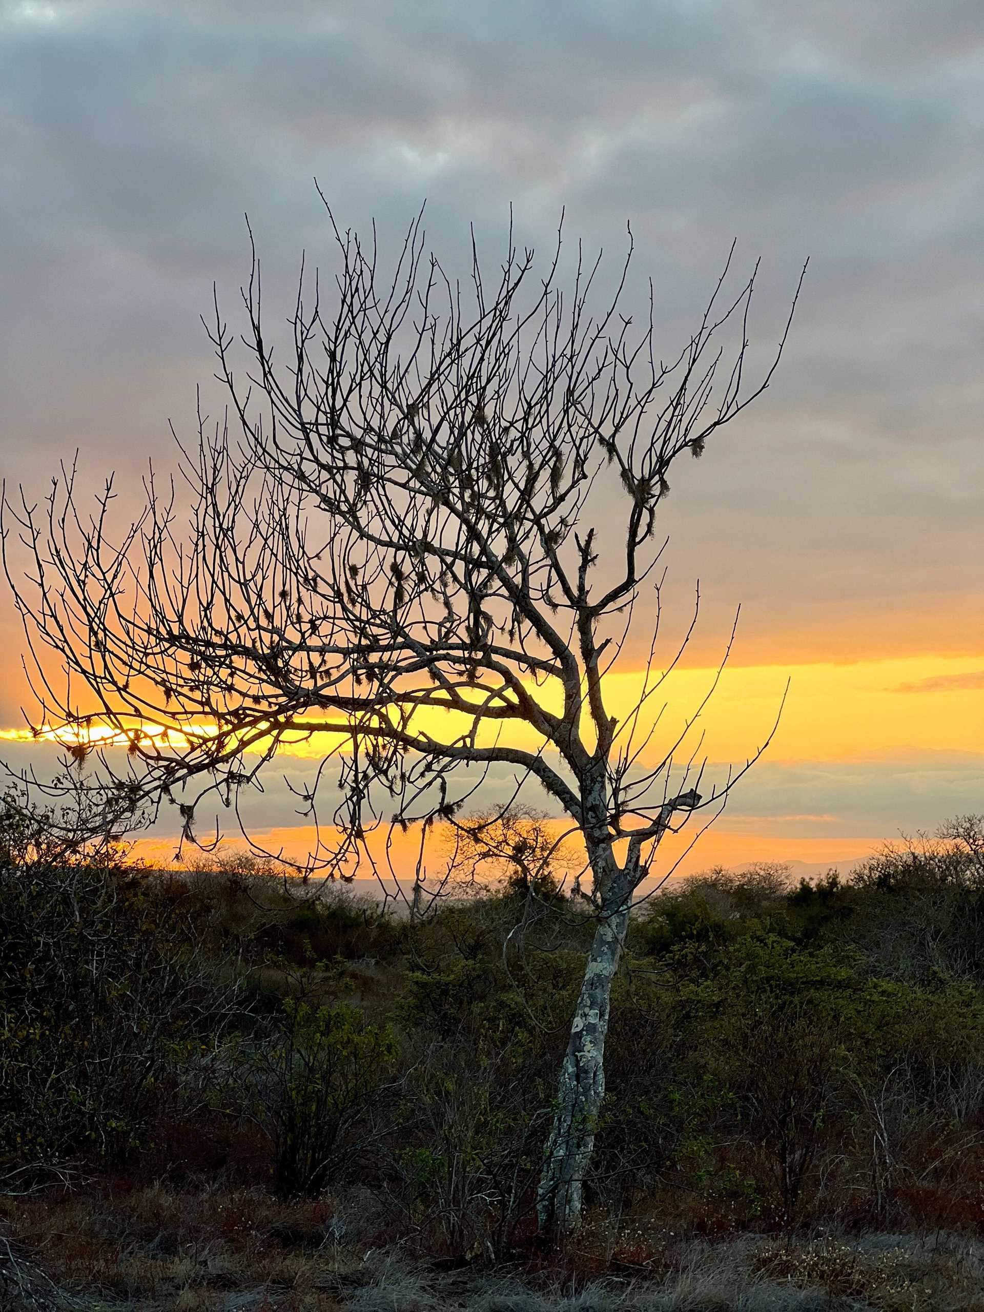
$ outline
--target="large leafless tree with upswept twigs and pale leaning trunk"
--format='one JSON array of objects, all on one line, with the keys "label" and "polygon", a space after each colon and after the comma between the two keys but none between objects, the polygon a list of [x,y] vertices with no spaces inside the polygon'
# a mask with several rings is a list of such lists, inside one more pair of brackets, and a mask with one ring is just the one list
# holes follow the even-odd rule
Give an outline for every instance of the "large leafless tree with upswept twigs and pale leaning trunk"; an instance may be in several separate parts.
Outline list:
[{"label": "large leafless tree with upswept twigs and pale leaning trunk", "polygon": [[[261,325],[255,249],[244,375],[216,300],[209,332],[231,408],[210,424],[199,405],[198,441],[181,447],[190,497],[148,475],[143,513],[114,541],[112,479],[87,514],[66,470],[45,506],[22,492],[8,502],[31,584],[9,563],[8,577],[45,722],[76,735],[79,758],[96,731],[122,743],[127,766],[104,756],[91,787],[117,804],[173,802],[185,840],[205,802],[239,813],[243,790],[300,739],[325,744],[319,783],[338,769],[331,813],[318,785],[298,795],[319,825],[311,865],[328,875],[386,872],[374,829],[419,827],[422,851],[493,766],[514,771],[517,794],[525,779],[544,789],[579,830],[597,916],[539,1189],[552,1236],[580,1216],[632,893],[664,834],[716,807],[748,765],[702,799],[699,740],[652,747],[643,711],[680,657],[655,663],[657,512],[673,462],[699,457],[769,384],[789,320],[749,384],[754,272],[726,298],[726,266],[664,363],[652,285],[640,327],[619,312],[631,231],[594,312],[601,257],[579,247],[564,291],[560,232],[534,273],[510,224],[492,281],[472,241],[462,286],[425,257],[420,215],[388,278],[375,231],[366,247],[328,218],[331,297],[302,264],[283,362]],[[638,611],[648,664],[619,722],[605,676]],[[47,674],[51,653],[68,691]]]}]

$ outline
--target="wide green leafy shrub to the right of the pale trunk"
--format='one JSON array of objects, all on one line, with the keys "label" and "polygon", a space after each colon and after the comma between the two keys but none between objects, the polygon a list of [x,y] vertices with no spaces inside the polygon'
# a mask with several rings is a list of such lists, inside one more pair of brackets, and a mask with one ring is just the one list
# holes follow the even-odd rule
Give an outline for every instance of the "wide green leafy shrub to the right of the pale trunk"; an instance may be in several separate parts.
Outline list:
[{"label": "wide green leafy shrub to the right of the pale trunk", "polygon": [[[967,985],[872,979],[858,954],[774,934],[735,939],[702,972],[681,949],[674,1010],[681,1072],[723,1097],[711,1134],[754,1149],[764,1194],[791,1220],[824,1155],[892,1086],[907,1086],[909,1128],[949,1132],[984,1090],[984,1002]],[[963,1102],[954,1097],[963,1090]],[[900,1144],[893,1151],[901,1151]]]}]

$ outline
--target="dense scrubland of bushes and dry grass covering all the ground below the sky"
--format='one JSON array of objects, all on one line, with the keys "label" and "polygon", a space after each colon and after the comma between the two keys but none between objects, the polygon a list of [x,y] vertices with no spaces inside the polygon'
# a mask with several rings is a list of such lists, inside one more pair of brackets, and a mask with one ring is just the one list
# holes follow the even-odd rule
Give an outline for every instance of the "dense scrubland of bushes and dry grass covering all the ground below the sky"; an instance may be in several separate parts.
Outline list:
[{"label": "dense scrubland of bushes and dry grass covering all the ground below the sky", "polygon": [[984,1308],[984,834],[638,908],[584,1225],[535,1239],[593,932],[0,816],[10,1307]]}]

